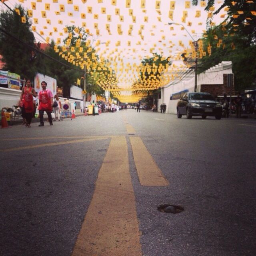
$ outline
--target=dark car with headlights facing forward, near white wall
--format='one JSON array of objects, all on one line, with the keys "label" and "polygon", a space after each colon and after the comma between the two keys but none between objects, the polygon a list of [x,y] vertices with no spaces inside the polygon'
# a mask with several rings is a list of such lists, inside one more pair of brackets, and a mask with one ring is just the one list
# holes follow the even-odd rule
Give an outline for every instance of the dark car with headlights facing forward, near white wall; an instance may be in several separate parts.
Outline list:
[{"label": "dark car with headlights facing forward, near white wall", "polygon": [[188,119],[192,116],[215,116],[216,119],[222,117],[222,106],[208,92],[187,92],[177,103],[177,116],[181,118],[186,115]]}]

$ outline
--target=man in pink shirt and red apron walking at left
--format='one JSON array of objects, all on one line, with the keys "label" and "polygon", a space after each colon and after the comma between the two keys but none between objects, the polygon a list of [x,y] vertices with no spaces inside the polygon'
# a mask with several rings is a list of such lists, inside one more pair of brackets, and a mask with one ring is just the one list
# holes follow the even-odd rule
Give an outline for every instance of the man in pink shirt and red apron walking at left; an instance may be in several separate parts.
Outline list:
[{"label": "man in pink shirt and red apron walking at left", "polygon": [[38,126],[44,126],[44,111],[46,112],[50,125],[52,124],[52,104],[53,104],[53,95],[52,92],[46,89],[47,83],[43,81],[41,83],[42,90],[39,92],[39,116],[40,116],[40,124]]}]

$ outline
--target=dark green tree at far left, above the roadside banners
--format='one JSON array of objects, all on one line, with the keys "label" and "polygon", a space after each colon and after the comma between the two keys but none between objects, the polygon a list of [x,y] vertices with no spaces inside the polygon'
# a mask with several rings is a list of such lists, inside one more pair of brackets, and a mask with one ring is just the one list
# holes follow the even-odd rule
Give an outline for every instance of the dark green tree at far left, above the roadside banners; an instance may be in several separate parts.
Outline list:
[{"label": "dark green tree at far left, above the roadside banners", "polygon": [[[39,67],[45,70],[43,57],[32,50],[36,47],[34,34],[30,30],[30,18],[20,5],[15,6],[15,9],[20,15],[10,10],[0,13],[0,53],[5,62],[5,70],[31,79]],[[26,22],[21,22],[21,16],[26,17]]]}]

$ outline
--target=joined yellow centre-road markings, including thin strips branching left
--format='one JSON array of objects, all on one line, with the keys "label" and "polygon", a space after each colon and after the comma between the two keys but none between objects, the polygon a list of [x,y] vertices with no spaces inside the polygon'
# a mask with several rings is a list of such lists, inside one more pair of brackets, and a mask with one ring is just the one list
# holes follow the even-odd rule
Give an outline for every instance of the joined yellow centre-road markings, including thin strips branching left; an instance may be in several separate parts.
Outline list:
[{"label": "joined yellow centre-road markings, including thin strips branching left", "polygon": [[[124,120],[128,134],[134,128]],[[46,146],[72,144],[110,138],[110,145],[98,173],[95,190],[76,240],[72,256],[142,256],[140,230],[136,213],[125,136],[48,137],[77,138],[0,150],[10,152]],[[40,139],[17,138],[13,140]],[[42,138],[42,139],[45,139]],[[161,170],[138,136],[130,136],[138,178],[142,186],[168,186]],[[121,152],[121,154],[120,154]]]}]

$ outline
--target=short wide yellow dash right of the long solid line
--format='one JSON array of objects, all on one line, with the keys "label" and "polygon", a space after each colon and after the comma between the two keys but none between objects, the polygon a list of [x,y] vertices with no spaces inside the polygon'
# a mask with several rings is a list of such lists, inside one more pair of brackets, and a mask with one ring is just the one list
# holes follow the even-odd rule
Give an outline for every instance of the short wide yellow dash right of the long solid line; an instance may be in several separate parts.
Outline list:
[{"label": "short wide yellow dash right of the long solid line", "polygon": [[161,170],[140,137],[130,137],[134,162],[142,186],[168,186]]}]

